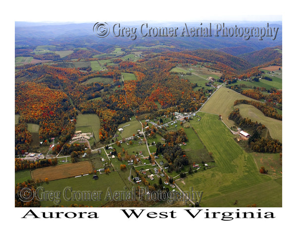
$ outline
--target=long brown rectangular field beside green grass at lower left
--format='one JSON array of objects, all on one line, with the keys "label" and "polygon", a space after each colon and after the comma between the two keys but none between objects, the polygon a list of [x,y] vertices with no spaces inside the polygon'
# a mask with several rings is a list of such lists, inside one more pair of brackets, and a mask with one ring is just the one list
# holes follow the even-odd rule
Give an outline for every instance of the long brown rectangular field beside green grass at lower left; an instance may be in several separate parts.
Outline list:
[{"label": "long brown rectangular field beside green grass at lower left", "polygon": [[51,181],[70,178],[81,174],[89,174],[89,172],[92,171],[93,168],[91,161],[81,161],[77,163],[67,163],[63,165],[34,169],[31,172],[31,176],[34,180],[39,179],[44,181],[45,178],[48,178],[49,181]]}]

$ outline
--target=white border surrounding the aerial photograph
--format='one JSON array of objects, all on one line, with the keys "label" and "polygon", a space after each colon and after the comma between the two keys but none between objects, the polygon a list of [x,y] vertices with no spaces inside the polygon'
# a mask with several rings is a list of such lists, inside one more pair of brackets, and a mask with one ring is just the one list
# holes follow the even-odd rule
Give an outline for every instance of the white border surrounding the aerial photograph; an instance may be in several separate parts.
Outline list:
[{"label": "white border surrounding the aerial photograph", "polygon": [[[209,2],[209,3],[208,3]],[[4,47],[5,57],[1,57],[1,68],[3,73],[1,79],[4,86],[1,86],[2,103],[4,103],[3,111],[5,114],[14,113],[14,22],[15,21],[62,21],[62,22],[98,22],[98,21],[131,21],[131,20],[155,20],[155,21],[214,21],[214,20],[273,20],[278,15],[283,16],[283,67],[284,67],[284,123],[283,123],[283,143],[284,143],[284,175],[283,175],[283,207],[282,208],[260,208],[262,210],[275,213],[277,218],[273,220],[266,219],[250,219],[250,220],[233,220],[219,221],[215,219],[201,220],[190,219],[184,214],[180,214],[176,219],[153,219],[148,218],[131,221],[123,217],[119,208],[94,208],[98,211],[100,218],[97,220],[90,219],[21,219],[23,213],[26,213],[23,208],[14,208],[14,203],[10,194],[14,193],[13,184],[9,182],[11,177],[10,166],[11,158],[2,158],[2,169],[7,169],[2,175],[3,181],[7,184],[4,192],[9,192],[8,197],[1,192],[1,203],[3,206],[2,216],[5,217],[3,228],[8,231],[15,232],[15,227],[7,225],[14,223],[14,226],[22,226],[19,228],[18,234],[36,233],[36,235],[51,236],[53,233],[68,234],[70,236],[85,236],[85,235],[228,235],[228,236],[260,236],[271,235],[280,236],[285,231],[288,233],[293,230],[294,225],[291,220],[295,217],[295,175],[296,155],[293,153],[293,148],[296,147],[290,135],[294,128],[294,117],[290,113],[290,101],[293,99],[290,94],[294,94],[294,87],[288,86],[289,83],[295,82],[294,72],[295,62],[291,61],[290,52],[295,48],[293,45],[296,40],[295,30],[295,12],[293,6],[286,4],[284,1],[271,0],[267,1],[240,1],[224,0],[224,1],[177,1],[177,0],[126,0],[126,1],[6,1],[2,11],[8,14],[2,15],[1,20],[4,25],[2,28],[1,41],[2,48]],[[3,4],[3,3],[2,3]],[[281,19],[281,18],[278,18]],[[4,42],[3,42],[4,41]],[[6,47],[8,45],[8,47]],[[8,50],[8,51],[7,51]],[[295,56],[295,55],[294,55]],[[294,63],[294,65],[293,65]],[[288,80],[288,81],[287,81]],[[3,82],[4,81],[4,82]],[[8,81],[8,82],[7,82]],[[8,87],[8,90],[7,90]],[[8,93],[7,93],[8,91]],[[6,92],[6,93],[5,93]],[[296,108],[296,105],[294,105]],[[8,151],[13,151],[12,141],[14,136],[11,134],[11,127],[14,127],[14,119],[4,118],[8,125],[4,128],[4,132],[8,135],[5,140],[1,138],[1,144],[8,145]],[[294,119],[294,120],[293,120]],[[6,121],[5,121],[6,123]],[[7,130],[7,132],[6,132]],[[291,133],[292,134],[292,133]],[[294,142],[294,143],[293,143]],[[6,146],[2,145],[2,148]],[[11,150],[10,150],[11,149]],[[5,149],[3,153],[7,153]],[[8,152],[9,154],[9,152]],[[9,163],[7,168],[7,164]],[[5,165],[4,165],[5,164]],[[290,167],[288,167],[290,166]],[[293,176],[294,175],[294,176]],[[290,181],[293,181],[291,183]],[[4,207],[5,206],[5,207]],[[50,211],[51,208],[44,208],[45,211]],[[151,208],[145,208],[151,209]],[[160,211],[164,211],[161,208]],[[230,208],[209,208],[216,211],[230,211]],[[219,210],[220,209],[220,210]],[[243,209],[243,208],[240,208]],[[38,209],[39,210],[39,209]],[[158,211],[158,208],[152,208],[152,211]],[[171,210],[171,209],[170,209]],[[57,211],[54,209],[53,211]],[[67,208],[67,211],[72,211]],[[75,209],[78,211],[78,209]],[[83,209],[83,211],[86,211]],[[87,211],[91,211],[88,209]],[[165,210],[166,211],[166,210]],[[180,209],[176,210],[178,213]],[[78,222],[78,223],[77,223]],[[76,225],[76,223],[78,225]],[[79,227],[79,228],[78,228]],[[116,228],[115,228],[116,227]],[[26,230],[26,231],[25,231]],[[29,231],[30,230],[30,231]],[[23,233],[24,232],[24,233]],[[4,233],[4,231],[3,231]]]}]

